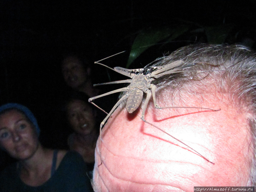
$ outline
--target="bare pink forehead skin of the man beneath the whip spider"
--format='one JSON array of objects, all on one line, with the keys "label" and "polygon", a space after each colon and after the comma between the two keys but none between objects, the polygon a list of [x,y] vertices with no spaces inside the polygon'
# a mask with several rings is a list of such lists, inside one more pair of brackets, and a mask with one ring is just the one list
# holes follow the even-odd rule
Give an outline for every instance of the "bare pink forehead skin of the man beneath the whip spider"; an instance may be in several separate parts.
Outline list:
[{"label": "bare pink forehead skin of the man beneath the whip spider", "polygon": [[[193,108],[154,109],[145,119],[180,139],[177,140],[144,123],[141,110],[128,114],[117,109],[103,128],[101,159],[99,140],[95,151],[93,183],[99,191],[194,191],[194,186],[245,186],[252,151],[246,119],[229,105],[228,97],[210,102],[189,98],[184,106],[202,106],[220,111]],[[217,94],[216,94],[216,97]],[[161,104],[166,106],[167,104]],[[137,113],[136,113],[137,112]],[[102,161],[102,164],[100,165]],[[100,165],[100,166],[97,166]]]}]

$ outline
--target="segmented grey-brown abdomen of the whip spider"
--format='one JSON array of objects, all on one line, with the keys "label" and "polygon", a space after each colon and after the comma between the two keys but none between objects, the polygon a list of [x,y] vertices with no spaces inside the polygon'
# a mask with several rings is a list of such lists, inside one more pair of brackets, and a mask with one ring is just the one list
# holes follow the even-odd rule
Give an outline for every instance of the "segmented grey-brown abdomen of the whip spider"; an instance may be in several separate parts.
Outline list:
[{"label": "segmented grey-brown abdomen of the whip spider", "polygon": [[126,103],[126,109],[128,113],[132,113],[140,106],[142,97],[143,91],[141,91],[137,87],[129,91],[129,97]]}]

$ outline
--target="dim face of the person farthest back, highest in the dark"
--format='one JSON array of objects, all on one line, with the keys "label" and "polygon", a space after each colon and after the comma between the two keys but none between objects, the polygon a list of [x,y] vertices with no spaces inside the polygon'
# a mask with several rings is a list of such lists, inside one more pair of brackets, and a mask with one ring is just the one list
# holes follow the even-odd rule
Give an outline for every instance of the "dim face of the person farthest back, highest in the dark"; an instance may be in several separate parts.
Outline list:
[{"label": "dim face of the person farthest back, highest in the dark", "polygon": [[79,89],[88,80],[87,71],[84,69],[81,60],[76,57],[67,57],[62,62],[64,80],[72,89]]}]

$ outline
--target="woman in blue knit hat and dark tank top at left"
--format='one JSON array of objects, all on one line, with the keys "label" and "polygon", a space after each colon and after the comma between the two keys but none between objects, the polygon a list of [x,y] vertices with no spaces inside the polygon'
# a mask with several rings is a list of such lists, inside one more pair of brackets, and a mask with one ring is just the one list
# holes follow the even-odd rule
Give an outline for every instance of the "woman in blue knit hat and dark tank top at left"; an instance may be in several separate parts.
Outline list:
[{"label": "woman in blue knit hat and dark tank top at left", "polygon": [[44,148],[39,134],[27,107],[0,107],[0,147],[18,160],[0,173],[0,191],[91,191],[83,158],[76,152]]}]

